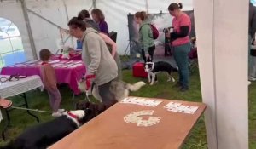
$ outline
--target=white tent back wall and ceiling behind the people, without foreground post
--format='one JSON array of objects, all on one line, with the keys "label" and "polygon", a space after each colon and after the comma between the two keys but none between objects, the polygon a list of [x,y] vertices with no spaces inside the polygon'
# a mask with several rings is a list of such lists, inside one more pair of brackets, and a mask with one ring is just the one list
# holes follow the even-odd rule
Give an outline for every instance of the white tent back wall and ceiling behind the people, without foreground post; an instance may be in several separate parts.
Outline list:
[{"label": "white tent back wall and ceiling behind the people, without foreground post", "polygon": [[[54,52],[58,48],[58,39],[61,38],[59,27],[67,29],[67,21],[77,16],[81,9],[91,10],[96,6],[106,15],[109,31],[118,32],[119,54],[124,54],[129,43],[127,14],[134,14],[140,10],[146,10],[149,13],[160,13],[160,10],[167,12],[171,2],[166,0],[160,3],[154,0],[2,0],[0,14],[1,17],[11,20],[18,26],[24,49],[29,55],[28,59],[32,59],[33,49],[36,49],[37,54],[38,50],[43,48],[52,49]],[[183,7],[192,9],[192,1],[184,1]],[[31,29],[27,28],[27,24],[30,24]],[[75,46],[71,41],[67,44]]]}]

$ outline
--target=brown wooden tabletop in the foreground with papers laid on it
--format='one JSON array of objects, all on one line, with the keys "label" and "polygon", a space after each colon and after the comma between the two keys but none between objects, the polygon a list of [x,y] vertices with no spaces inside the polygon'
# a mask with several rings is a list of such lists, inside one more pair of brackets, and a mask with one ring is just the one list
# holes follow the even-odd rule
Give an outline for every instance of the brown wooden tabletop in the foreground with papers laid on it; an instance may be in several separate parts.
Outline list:
[{"label": "brown wooden tabletop in the foreground with papers laid on it", "polygon": [[[159,100],[159,99],[158,99]],[[204,112],[203,103],[162,100],[155,107],[117,103],[95,117],[89,123],[50,146],[50,149],[176,149],[183,145],[190,130]],[[199,106],[194,114],[167,111],[170,101],[185,106]],[[154,110],[153,116],[161,117],[160,123],[138,127],[136,123],[125,123],[124,117],[141,110]]]}]

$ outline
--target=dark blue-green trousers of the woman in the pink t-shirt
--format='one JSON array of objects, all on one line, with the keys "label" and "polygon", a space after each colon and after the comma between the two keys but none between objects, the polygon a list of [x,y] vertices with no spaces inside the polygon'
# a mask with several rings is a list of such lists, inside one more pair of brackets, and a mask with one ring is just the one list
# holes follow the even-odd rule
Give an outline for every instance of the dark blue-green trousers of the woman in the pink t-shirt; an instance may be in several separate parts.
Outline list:
[{"label": "dark blue-green trousers of the woman in the pink t-shirt", "polygon": [[189,51],[190,43],[173,47],[173,56],[178,66],[179,83],[183,88],[189,88]]}]

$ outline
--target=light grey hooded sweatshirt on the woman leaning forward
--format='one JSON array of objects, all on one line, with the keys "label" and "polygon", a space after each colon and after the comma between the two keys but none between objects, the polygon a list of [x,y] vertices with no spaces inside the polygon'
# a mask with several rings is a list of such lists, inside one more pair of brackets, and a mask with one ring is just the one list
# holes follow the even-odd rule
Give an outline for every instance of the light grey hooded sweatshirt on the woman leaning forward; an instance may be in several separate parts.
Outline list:
[{"label": "light grey hooded sweatshirt on the woman leaning forward", "polygon": [[82,59],[87,74],[95,74],[97,86],[112,81],[118,75],[118,67],[108,47],[96,30],[89,27],[84,32]]}]

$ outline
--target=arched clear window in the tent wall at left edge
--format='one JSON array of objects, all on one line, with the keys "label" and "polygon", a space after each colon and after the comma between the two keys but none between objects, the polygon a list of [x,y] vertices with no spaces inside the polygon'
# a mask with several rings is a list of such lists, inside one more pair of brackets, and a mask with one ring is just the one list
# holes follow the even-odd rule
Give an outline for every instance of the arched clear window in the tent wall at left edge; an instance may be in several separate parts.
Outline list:
[{"label": "arched clear window in the tent wall at left edge", "polygon": [[0,68],[25,60],[18,27],[10,20],[0,17]]}]

